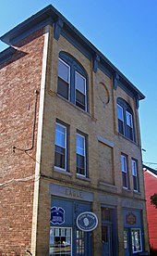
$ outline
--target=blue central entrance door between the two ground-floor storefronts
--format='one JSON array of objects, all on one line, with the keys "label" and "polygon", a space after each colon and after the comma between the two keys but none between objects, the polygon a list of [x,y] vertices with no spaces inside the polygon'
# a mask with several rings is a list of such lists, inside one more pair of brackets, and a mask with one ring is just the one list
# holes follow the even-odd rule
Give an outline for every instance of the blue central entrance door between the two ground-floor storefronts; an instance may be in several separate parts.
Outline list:
[{"label": "blue central entrance door between the two ground-floor storefronts", "polygon": [[111,224],[102,226],[102,256],[112,256],[112,228]]}]

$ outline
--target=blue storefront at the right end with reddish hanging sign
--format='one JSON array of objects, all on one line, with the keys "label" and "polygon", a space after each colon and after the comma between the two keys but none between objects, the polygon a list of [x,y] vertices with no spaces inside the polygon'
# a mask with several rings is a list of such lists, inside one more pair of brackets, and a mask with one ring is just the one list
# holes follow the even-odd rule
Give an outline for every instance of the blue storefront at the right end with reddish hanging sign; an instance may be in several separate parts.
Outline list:
[{"label": "blue storefront at the right end with reddish hanging sign", "polygon": [[135,209],[124,209],[123,211],[125,256],[136,255],[144,248],[141,213]]}]

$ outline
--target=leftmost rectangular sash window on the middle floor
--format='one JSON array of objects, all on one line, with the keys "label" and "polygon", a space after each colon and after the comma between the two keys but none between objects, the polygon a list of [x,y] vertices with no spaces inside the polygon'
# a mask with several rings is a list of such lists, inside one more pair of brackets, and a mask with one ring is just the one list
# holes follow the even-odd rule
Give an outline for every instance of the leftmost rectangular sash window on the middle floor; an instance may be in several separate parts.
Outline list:
[{"label": "leftmost rectangular sash window on the middle floor", "polygon": [[66,171],[66,126],[55,123],[54,166]]}]

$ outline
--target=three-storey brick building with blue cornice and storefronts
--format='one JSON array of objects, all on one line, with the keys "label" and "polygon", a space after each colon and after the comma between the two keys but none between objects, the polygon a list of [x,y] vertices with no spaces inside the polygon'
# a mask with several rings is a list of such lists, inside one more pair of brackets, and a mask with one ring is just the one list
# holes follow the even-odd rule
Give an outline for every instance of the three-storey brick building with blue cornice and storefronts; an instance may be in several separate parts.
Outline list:
[{"label": "three-storey brick building with blue cornice and storefronts", "polygon": [[144,96],[53,6],[1,40],[0,255],[148,250]]}]

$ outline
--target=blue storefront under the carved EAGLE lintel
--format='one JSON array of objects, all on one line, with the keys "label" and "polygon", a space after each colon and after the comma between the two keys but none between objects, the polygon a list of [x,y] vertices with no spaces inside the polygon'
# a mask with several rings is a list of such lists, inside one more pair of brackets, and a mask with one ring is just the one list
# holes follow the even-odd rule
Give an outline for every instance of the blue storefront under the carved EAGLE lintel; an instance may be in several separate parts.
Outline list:
[{"label": "blue storefront under the carved EAGLE lintel", "polygon": [[[91,256],[92,231],[79,228],[77,218],[82,212],[91,212],[93,195],[90,192],[51,185],[52,195],[49,255]],[[85,226],[90,221],[84,218]]]}]

